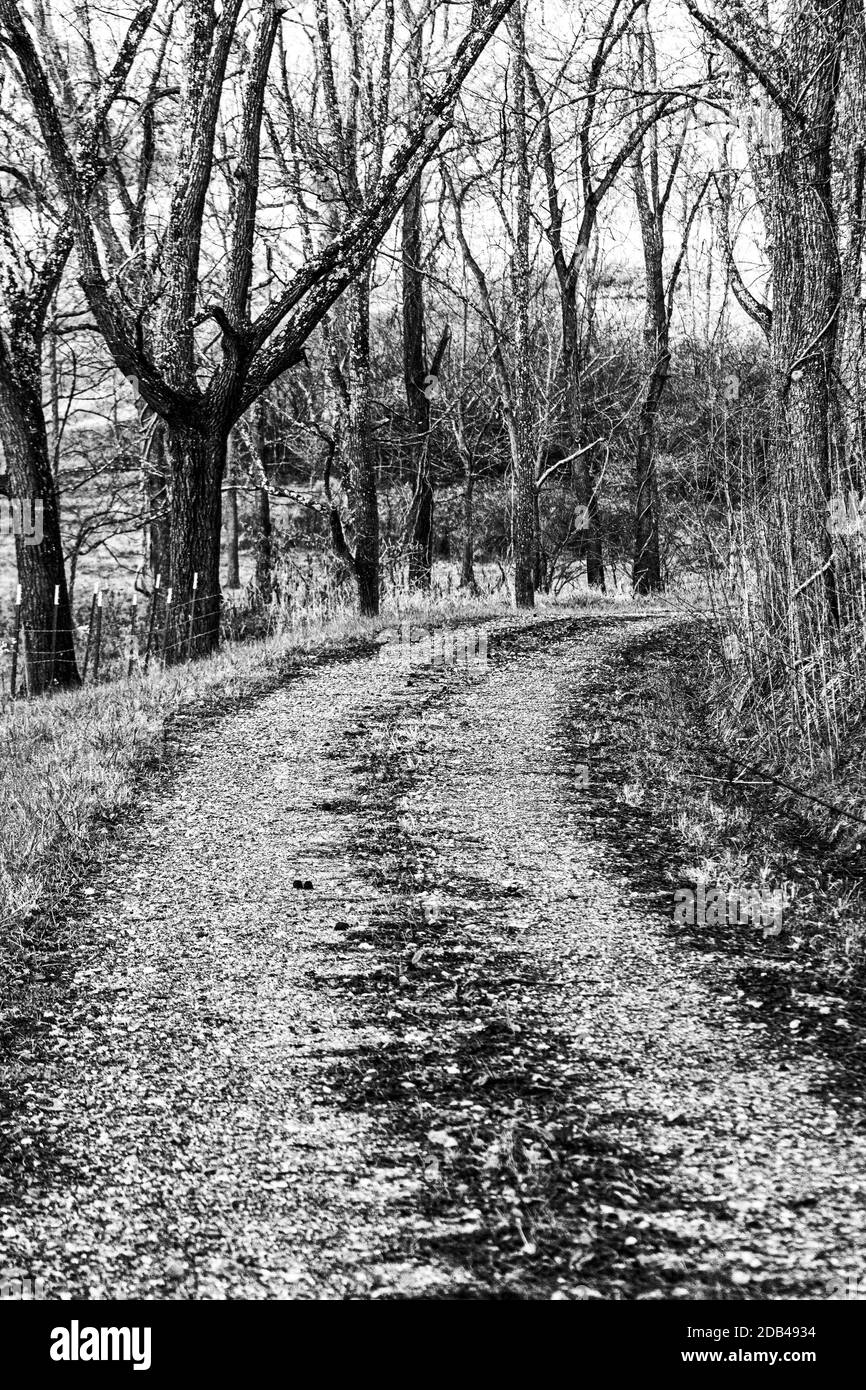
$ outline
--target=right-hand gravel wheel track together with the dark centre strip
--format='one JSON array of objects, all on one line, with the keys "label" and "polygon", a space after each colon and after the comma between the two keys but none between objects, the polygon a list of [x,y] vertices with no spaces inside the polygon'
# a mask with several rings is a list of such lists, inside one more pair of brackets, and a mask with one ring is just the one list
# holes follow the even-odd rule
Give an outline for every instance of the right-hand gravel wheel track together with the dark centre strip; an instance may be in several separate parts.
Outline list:
[{"label": "right-hand gravel wheel track together with the dark centre strip", "polygon": [[370,877],[403,899],[371,940],[396,924],[403,966],[388,1052],[335,1079],[424,1175],[382,1295],[820,1298],[863,1268],[862,1125],[837,1126],[823,1058],[737,1016],[730,960],[671,940],[664,834],[623,815],[585,694],[613,703],[648,631],[506,634],[482,688],[418,680],[371,748]]}]

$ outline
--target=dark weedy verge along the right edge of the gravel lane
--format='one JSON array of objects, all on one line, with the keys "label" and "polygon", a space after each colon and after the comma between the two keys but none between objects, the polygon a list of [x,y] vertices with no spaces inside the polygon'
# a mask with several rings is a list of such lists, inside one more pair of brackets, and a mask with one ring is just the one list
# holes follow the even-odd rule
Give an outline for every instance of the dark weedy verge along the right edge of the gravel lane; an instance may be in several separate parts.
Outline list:
[{"label": "dark weedy verge along the right edge of the gravel lane", "polygon": [[[631,730],[624,795],[651,808],[678,847],[676,881],[784,890],[780,944],[859,992],[866,972],[866,824],[841,812],[863,815],[862,752],[849,749],[833,777],[805,762],[767,769],[731,719],[730,689],[719,676],[724,662],[708,621],[687,620],[662,639],[631,644],[623,669]],[[701,931],[706,940],[710,929]]]}]

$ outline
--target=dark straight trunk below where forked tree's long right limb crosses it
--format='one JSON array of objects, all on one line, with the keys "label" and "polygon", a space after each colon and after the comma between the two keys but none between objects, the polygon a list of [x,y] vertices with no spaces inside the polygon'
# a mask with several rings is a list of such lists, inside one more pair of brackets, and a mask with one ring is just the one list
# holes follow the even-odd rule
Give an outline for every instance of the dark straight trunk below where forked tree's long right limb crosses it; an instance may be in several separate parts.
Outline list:
[{"label": "dark straight trunk below where forked tree's long right limb crosses it", "polygon": [[421,181],[403,203],[403,379],[409,406],[414,493],[409,509],[409,582],[428,589],[432,573],[434,489],[430,477],[430,400],[424,392],[424,281],[421,277]]}]

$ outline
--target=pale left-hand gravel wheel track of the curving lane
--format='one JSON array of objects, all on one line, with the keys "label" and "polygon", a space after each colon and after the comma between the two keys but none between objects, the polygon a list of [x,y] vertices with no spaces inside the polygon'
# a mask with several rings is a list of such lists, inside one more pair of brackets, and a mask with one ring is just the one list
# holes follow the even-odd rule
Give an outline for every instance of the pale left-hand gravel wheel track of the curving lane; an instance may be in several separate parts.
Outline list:
[{"label": "pale left-hand gravel wheel track of the curving lane", "polygon": [[8,1059],[0,1268],[54,1298],[367,1287],[385,1188],[327,1068],[385,1040],[328,999],[354,973],[334,922],[370,888],[327,812],[359,701],[402,698],[375,660],[325,666],[211,726],[143,801],[92,880],[68,997]]}]

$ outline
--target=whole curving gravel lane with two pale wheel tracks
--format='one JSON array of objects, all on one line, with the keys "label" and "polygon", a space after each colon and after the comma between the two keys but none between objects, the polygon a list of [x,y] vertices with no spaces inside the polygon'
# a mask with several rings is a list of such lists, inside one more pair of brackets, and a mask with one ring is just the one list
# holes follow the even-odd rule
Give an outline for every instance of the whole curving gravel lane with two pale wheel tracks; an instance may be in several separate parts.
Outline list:
[{"label": "whole curving gravel lane with two pale wheel tracks", "polygon": [[11,1059],[0,1268],[97,1298],[827,1297],[866,1269],[833,1063],[734,1026],[730,963],[610,869],[623,766],[585,692],[656,621],[512,628],[470,678],[328,666],[188,749]]}]

